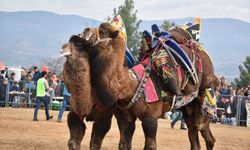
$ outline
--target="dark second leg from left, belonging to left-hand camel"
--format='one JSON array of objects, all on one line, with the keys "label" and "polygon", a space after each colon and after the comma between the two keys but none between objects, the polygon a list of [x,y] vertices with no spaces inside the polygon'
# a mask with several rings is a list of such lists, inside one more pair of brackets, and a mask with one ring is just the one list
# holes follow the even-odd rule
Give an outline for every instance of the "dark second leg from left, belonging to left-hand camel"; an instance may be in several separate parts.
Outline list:
[{"label": "dark second leg from left, belonging to left-hand camel", "polygon": [[112,111],[106,112],[105,116],[95,120],[92,127],[90,150],[100,150],[102,141],[111,127]]}]

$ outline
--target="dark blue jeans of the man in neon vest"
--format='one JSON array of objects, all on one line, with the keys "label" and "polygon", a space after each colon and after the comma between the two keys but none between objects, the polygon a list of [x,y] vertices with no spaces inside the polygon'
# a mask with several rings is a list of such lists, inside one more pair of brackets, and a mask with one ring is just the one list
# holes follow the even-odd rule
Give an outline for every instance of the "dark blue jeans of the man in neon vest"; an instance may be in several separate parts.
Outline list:
[{"label": "dark blue jeans of the man in neon vest", "polygon": [[48,97],[47,96],[36,98],[36,107],[35,107],[33,119],[37,119],[37,114],[38,114],[39,108],[41,107],[41,102],[43,102],[43,104],[44,104],[45,115],[46,115],[46,119],[48,120],[49,119],[49,104],[48,104]]}]

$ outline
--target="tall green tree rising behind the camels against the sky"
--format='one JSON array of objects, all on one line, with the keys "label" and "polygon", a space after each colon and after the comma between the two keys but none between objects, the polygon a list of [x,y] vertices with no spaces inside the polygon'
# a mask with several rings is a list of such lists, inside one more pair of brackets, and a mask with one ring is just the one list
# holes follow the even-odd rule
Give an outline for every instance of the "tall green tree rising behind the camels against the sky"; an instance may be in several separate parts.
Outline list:
[{"label": "tall green tree rising behind the camels against the sky", "polygon": [[[114,8],[114,16],[120,15],[126,27],[127,32],[127,46],[134,53],[140,44],[140,35],[138,28],[141,20],[136,16],[137,10],[134,7],[133,0],[125,0],[124,4],[118,9]],[[109,17],[110,18],[110,17]]]}]

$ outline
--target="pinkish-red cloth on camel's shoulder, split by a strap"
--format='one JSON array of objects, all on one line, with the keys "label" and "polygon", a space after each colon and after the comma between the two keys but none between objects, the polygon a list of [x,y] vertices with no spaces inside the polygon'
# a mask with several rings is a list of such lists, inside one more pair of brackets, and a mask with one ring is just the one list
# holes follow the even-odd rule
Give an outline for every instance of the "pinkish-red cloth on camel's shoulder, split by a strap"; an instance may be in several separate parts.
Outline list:
[{"label": "pinkish-red cloth on camel's shoulder, split by a strap", "polygon": [[[139,79],[143,77],[143,74],[145,72],[145,68],[143,67],[142,64],[138,64],[133,67],[133,70],[136,72],[137,76]],[[155,90],[155,86],[151,78],[148,78],[145,88],[144,88],[144,93],[146,96],[146,102],[147,103],[153,103],[159,100],[157,92]]]}]

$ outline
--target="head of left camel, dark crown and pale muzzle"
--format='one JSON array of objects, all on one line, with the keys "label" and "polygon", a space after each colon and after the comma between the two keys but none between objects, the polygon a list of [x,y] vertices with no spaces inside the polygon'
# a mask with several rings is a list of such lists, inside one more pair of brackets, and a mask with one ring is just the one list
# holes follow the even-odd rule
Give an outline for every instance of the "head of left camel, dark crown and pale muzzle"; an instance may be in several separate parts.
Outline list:
[{"label": "head of left camel, dark crown and pale muzzle", "polygon": [[83,55],[89,47],[89,43],[86,40],[73,35],[68,43],[63,44],[61,56],[65,56],[67,59],[77,59],[79,56]]}]

